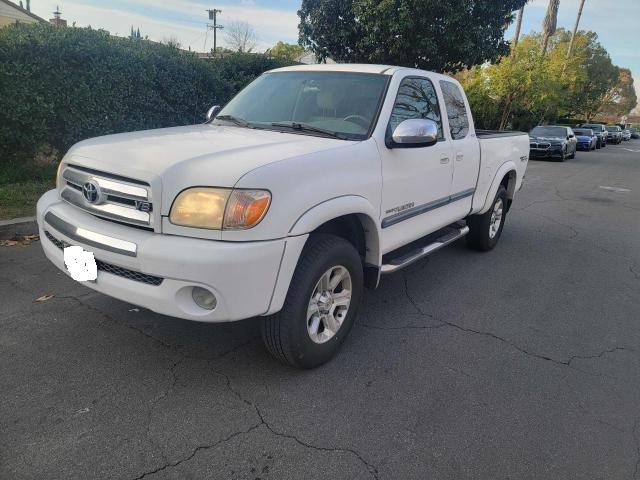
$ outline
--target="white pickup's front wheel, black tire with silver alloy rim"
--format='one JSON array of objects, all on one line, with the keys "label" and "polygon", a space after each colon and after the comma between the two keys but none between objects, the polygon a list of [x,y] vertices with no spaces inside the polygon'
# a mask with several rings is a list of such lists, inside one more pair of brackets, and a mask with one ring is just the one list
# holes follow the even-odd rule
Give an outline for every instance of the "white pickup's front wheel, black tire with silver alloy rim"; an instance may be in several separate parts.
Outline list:
[{"label": "white pickup's front wheel, black tire with silver alloy rim", "polygon": [[299,368],[329,361],[353,326],[362,289],[362,261],[353,245],[333,235],[311,235],[282,310],[262,322],[267,350]]}]

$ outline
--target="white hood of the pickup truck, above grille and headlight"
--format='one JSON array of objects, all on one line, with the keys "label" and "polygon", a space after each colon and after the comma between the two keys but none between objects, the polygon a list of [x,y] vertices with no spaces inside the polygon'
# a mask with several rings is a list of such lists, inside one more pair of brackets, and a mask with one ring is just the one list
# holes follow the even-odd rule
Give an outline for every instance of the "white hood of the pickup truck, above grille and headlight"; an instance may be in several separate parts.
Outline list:
[{"label": "white hood of the pickup truck, above grille and headlight", "polygon": [[[352,142],[235,126],[193,125],[121,133],[74,145],[65,161],[149,183],[233,187],[245,173],[271,162]],[[182,188],[192,185],[182,185]]]}]

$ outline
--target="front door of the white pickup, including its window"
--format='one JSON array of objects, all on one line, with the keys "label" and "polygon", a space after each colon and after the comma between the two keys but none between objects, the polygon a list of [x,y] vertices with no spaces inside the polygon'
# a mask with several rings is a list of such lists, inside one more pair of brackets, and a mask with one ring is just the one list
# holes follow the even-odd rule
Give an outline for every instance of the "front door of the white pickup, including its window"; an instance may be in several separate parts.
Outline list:
[{"label": "front door of the white pickup, including its window", "polygon": [[383,253],[420,238],[449,221],[446,205],[451,192],[451,142],[442,127],[440,103],[433,82],[426,77],[402,79],[391,112],[387,135],[404,120],[426,118],[438,124],[439,141],[429,147],[381,146]]}]

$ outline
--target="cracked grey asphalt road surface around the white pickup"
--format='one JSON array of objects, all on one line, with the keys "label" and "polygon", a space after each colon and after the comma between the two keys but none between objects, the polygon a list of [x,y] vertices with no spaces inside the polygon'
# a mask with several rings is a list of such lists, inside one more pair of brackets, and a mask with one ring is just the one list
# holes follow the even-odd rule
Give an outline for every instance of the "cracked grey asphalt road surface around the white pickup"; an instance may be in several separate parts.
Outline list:
[{"label": "cracked grey asphalt road surface around the white pickup", "polygon": [[312,371],[0,247],[0,478],[640,478],[639,220],[640,141],[531,161],[495,250],[384,278]]}]

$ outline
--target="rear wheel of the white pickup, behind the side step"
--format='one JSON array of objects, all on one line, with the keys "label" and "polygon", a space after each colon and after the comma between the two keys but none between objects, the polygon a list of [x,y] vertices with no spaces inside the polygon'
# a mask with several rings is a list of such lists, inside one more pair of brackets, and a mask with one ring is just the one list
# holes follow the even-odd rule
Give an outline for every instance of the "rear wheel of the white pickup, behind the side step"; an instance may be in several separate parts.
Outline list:
[{"label": "rear wheel of the white pickup, behind the side step", "polygon": [[469,233],[467,245],[475,250],[487,251],[496,246],[507,214],[507,191],[500,185],[491,208],[482,215],[471,215],[467,218]]}]

